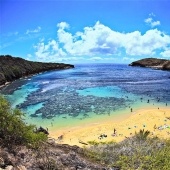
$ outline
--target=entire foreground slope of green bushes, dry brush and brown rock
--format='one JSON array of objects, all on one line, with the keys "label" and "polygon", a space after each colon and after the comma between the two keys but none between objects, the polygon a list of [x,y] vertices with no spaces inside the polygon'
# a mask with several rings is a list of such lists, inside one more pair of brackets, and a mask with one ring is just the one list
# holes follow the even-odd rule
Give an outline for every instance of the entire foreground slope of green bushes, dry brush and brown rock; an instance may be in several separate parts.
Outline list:
[{"label": "entire foreground slope of green bushes, dry brush and brown rock", "polygon": [[44,133],[36,133],[35,126],[22,120],[23,113],[11,109],[0,97],[0,168],[36,170],[135,170],[168,169],[170,140],[152,137],[140,130],[120,143],[97,143],[79,148],[47,140]]}]

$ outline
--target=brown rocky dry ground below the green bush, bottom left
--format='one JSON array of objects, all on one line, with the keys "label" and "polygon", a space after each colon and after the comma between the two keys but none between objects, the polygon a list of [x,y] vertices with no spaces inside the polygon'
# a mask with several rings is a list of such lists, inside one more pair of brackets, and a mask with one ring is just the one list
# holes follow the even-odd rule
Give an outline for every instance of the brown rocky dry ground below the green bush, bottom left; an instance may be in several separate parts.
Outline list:
[{"label": "brown rocky dry ground below the green bush, bottom left", "polygon": [[88,160],[83,153],[84,150],[78,146],[55,143],[45,144],[37,150],[28,149],[25,146],[11,149],[0,147],[0,169],[107,170],[106,165]]}]

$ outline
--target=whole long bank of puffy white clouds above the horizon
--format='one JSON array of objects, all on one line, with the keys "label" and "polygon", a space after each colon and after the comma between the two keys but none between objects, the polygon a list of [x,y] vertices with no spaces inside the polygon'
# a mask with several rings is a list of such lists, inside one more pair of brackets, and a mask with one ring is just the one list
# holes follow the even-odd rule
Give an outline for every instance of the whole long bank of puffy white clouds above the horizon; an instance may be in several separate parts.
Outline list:
[{"label": "whole long bank of puffy white clouds above the horizon", "polygon": [[[170,46],[170,35],[158,29],[144,34],[139,31],[121,33],[98,21],[93,27],[85,27],[82,32],[72,34],[66,30],[69,28],[67,23],[61,22],[57,26],[57,40],[50,40],[47,44],[40,41],[35,46],[38,58],[69,60],[71,57],[81,59],[91,56],[91,59],[100,60],[109,59],[107,56],[119,57],[122,49],[127,56],[153,56],[158,50],[162,50],[161,55],[167,55],[165,51]],[[95,58],[97,56],[100,58]]]}]

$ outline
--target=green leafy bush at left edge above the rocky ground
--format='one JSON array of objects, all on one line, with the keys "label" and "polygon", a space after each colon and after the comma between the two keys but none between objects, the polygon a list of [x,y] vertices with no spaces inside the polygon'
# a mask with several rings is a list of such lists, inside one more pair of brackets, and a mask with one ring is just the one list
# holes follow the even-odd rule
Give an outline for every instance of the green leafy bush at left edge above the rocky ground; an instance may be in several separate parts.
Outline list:
[{"label": "green leafy bush at left edge above the rocky ground", "polygon": [[26,145],[39,147],[47,140],[44,133],[35,133],[34,125],[27,125],[22,117],[24,114],[18,109],[11,109],[10,103],[0,96],[0,144],[6,147],[12,145]]}]

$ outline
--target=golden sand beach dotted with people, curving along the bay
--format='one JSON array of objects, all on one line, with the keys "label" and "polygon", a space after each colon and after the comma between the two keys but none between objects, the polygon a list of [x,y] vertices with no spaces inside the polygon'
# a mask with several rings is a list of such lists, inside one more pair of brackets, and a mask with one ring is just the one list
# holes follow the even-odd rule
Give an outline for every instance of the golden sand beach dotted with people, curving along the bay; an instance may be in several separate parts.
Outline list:
[{"label": "golden sand beach dotted with people, curving along the bay", "polygon": [[[169,119],[167,119],[169,117]],[[79,140],[87,143],[88,141],[115,141],[120,142],[126,137],[133,136],[135,132],[139,132],[140,129],[149,130],[151,136],[158,136],[160,138],[169,138],[167,132],[170,132],[170,128],[159,130],[158,127],[168,125],[170,127],[170,108],[165,107],[161,109],[142,109],[118,122],[112,122],[111,120],[102,122],[100,124],[91,124],[78,128],[65,129],[60,131],[51,131],[50,136],[58,139],[59,136],[63,136],[61,140],[57,140],[57,143],[77,145],[83,147],[84,144],[79,143]],[[156,129],[154,128],[156,126]],[[116,136],[112,136],[116,129]],[[98,137],[101,134],[107,135],[103,139]],[[88,145],[86,145],[88,146]]]}]

